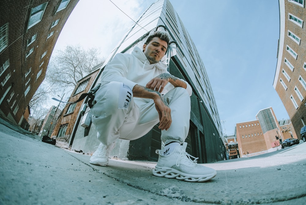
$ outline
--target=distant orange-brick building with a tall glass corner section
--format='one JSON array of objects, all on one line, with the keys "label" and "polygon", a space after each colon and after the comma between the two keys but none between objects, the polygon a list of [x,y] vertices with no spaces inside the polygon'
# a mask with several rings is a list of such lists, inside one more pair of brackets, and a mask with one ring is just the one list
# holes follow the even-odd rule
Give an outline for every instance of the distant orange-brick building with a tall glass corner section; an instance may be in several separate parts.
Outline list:
[{"label": "distant orange-brick building with a tall glass corner section", "polygon": [[272,107],[259,110],[257,120],[236,124],[240,157],[250,157],[281,149],[281,142],[297,138],[290,120],[277,121]]}]

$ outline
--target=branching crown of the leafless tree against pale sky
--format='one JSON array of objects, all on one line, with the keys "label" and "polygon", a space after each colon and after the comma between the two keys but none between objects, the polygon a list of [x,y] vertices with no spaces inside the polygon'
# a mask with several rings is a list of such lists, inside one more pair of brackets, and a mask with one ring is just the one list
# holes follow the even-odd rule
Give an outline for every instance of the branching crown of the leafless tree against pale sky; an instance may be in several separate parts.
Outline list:
[{"label": "branching crown of the leafless tree against pale sky", "polygon": [[68,45],[65,50],[57,50],[50,59],[45,80],[56,88],[72,91],[77,82],[91,73],[91,69],[102,62],[97,48],[85,50],[80,45]]}]

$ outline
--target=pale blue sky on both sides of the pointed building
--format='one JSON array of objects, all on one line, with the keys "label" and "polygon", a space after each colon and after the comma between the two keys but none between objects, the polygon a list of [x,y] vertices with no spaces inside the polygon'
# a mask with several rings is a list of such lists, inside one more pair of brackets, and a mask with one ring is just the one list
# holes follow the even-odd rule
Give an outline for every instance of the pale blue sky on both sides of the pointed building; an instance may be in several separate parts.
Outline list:
[{"label": "pale blue sky on both sides of the pointed building", "polygon": [[[133,20],[155,0],[112,0]],[[205,65],[223,131],[256,120],[272,107],[289,119],[273,88],[279,38],[278,0],[170,0]],[[99,47],[107,57],[133,21],[109,0],[80,0],[67,20],[55,50],[67,44]],[[82,30],[83,32],[80,32]],[[55,52],[54,52],[55,53]],[[57,105],[57,102],[54,102]]]}]

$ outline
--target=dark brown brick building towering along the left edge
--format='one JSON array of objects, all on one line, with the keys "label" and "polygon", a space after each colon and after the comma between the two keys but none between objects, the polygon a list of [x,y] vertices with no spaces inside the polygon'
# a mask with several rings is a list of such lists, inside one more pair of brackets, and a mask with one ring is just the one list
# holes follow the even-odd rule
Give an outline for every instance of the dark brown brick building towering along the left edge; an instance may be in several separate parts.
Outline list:
[{"label": "dark brown brick building towering along the left edge", "polygon": [[78,0],[0,1],[0,113],[28,129],[28,104],[45,78],[62,28]]}]

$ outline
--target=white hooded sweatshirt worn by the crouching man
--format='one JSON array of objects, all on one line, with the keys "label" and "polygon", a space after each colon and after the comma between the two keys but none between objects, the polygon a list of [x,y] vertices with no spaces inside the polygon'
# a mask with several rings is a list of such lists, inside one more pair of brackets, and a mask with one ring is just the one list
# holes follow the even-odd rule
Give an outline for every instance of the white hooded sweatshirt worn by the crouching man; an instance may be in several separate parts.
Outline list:
[{"label": "white hooded sweatshirt worn by the crouching man", "polygon": [[[106,65],[101,77],[101,86],[117,81],[127,84],[133,89],[136,84],[146,86],[150,80],[162,73],[169,73],[166,64],[160,61],[150,64],[144,52],[139,47],[135,47],[132,54],[118,53]],[[186,90],[189,96],[191,96],[191,86],[185,80],[182,81],[187,84]],[[162,94],[167,93],[173,88],[174,86],[168,83]]]}]

